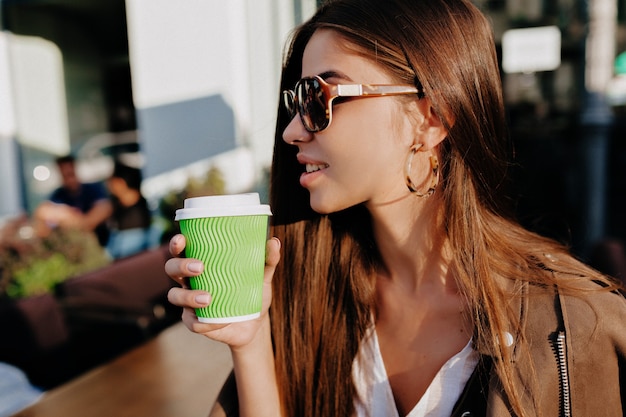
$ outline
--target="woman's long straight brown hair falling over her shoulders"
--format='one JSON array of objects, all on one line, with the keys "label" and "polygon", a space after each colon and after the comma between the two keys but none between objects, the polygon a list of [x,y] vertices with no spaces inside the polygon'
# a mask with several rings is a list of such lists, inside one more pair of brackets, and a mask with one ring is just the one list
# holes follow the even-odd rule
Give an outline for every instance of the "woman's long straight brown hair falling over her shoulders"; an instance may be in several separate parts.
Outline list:
[{"label": "woman's long straight brown hair falling over her shoulders", "polygon": [[[281,90],[301,76],[315,30],[333,29],[356,53],[386,68],[398,83],[421,85],[448,122],[439,149],[444,227],[458,285],[470,306],[475,342],[486,346],[508,401],[527,415],[515,392],[511,361],[501,349],[510,294],[496,278],[564,285],[563,276],[610,282],[549,239],[512,220],[506,198],[509,149],[491,27],[468,0],[336,0],[293,33]],[[271,308],[276,370],[289,416],[354,412],[352,362],[375,311],[378,259],[367,211],[319,215],[298,184],[297,149],[282,140],[289,115],[279,109],[271,172],[273,234],[283,242]],[[550,259],[558,262],[547,262]],[[552,266],[548,267],[550,264]],[[557,273],[555,273],[557,272]]]}]

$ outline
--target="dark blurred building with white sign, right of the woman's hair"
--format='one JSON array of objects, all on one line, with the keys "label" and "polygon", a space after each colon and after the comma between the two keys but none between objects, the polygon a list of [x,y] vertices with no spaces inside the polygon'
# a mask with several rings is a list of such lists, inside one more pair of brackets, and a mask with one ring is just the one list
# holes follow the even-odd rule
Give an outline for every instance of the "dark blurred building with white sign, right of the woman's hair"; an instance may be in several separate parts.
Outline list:
[{"label": "dark blurred building with white sign, right of the woman's hair", "polygon": [[626,132],[607,100],[626,50],[626,2],[480,6],[503,64],[520,220],[582,257],[601,239],[626,238]]}]

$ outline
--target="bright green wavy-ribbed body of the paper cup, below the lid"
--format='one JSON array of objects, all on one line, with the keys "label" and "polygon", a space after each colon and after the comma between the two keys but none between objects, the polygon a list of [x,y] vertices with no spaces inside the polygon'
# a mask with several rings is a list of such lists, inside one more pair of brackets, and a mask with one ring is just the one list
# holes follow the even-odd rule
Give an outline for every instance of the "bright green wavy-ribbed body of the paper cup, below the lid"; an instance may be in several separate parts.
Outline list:
[{"label": "bright green wavy-ribbed body of the paper cup, below the lid", "polygon": [[261,311],[268,216],[211,217],[180,221],[185,254],[200,259],[204,272],[190,279],[193,289],[211,294],[205,319],[237,319]]}]

